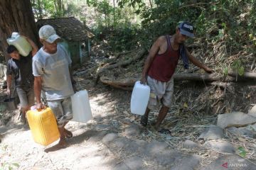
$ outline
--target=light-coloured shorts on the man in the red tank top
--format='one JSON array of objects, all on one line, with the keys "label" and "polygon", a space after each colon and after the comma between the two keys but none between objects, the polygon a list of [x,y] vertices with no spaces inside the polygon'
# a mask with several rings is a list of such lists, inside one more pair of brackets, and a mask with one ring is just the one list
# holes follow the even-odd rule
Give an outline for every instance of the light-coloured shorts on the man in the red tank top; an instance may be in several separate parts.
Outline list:
[{"label": "light-coloured shorts on the man in the red tank top", "polygon": [[161,102],[164,106],[170,108],[174,96],[174,77],[167,82],[158,81],[151,77],[147,77],[147,85],[150,87],[150,97],[148,108],[156,110]]}]

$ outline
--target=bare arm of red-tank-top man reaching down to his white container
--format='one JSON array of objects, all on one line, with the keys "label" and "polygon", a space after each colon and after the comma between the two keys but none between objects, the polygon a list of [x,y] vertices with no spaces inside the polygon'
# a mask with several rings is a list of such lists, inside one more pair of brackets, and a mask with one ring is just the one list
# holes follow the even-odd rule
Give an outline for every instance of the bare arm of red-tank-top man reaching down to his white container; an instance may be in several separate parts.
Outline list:
[{"label": "bare arm of red-tank-top man reaching down to his white container", "polygon": [[154,42],[151,49],[149,50],[149,55],[146,57],[144,68],[142,70],[141,84],[146,84],[146,76],[147,76],[147,73],[149,72],[149,67],[151,66],[151,63],[153,62],[154,57],[156,56],[156,53],[159,52],[161,45],[164,43],[164,40],[166,40],[164,38],[164,36],[159,37]]}]

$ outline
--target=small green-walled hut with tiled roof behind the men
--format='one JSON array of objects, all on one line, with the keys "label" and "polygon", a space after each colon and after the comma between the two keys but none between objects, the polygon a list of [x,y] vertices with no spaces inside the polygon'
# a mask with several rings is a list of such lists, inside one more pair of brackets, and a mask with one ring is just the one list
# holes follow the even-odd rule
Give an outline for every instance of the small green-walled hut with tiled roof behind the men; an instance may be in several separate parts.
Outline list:
[{"label": "small green-walled hut with tiled roof behind the men", "polygon": [[70,53],[73,68],[79,67],[82,62],[90,59],[90,40],[94,35],[78,19],[74,17],[49,18],[36,22],[38,30],[44,25],[53,26],[57,34],[63,39],[61,43]]}]

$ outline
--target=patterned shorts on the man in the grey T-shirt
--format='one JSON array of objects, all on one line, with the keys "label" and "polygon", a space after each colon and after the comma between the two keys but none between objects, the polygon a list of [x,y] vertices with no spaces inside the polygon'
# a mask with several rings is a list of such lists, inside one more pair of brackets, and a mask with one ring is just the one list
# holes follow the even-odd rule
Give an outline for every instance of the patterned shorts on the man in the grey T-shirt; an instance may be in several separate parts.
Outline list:
[{"label": "patterned shorts on the man in the grey T-shirt", "polygon": [[53,111],[58,123],[62,127],[73,118],[71,98],[63,98],[55,101],[47,101],[48,106]]}]

